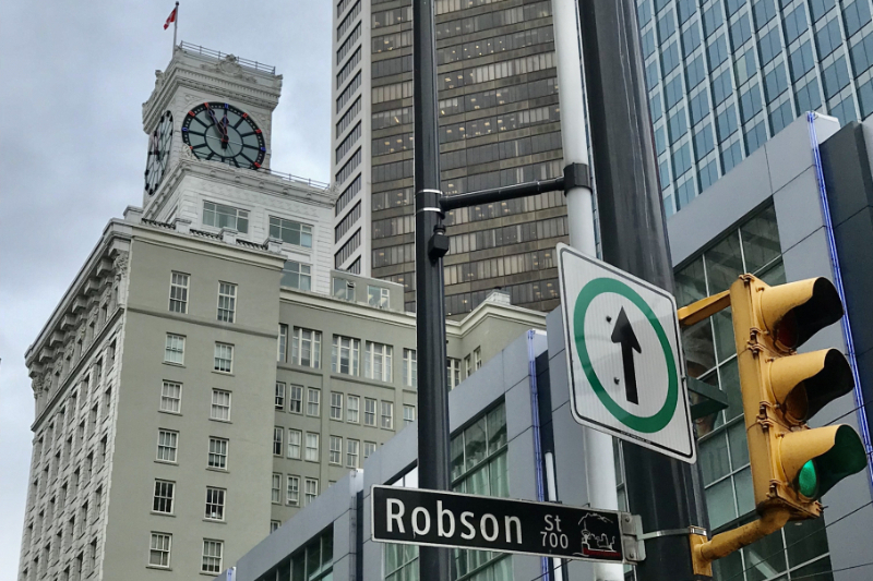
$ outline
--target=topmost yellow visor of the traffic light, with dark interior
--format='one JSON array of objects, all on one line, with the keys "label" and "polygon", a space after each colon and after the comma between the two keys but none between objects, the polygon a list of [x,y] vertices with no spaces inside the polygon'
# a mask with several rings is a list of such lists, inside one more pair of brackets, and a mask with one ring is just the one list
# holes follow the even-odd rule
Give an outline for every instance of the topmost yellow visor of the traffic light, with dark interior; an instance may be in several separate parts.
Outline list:
[{"label": "topmost yellow visor of the traffic light, with dark interior", "polygon": [[834,283],[818,277],[765,286],[761,311],[776,342],[785,349],[797,349],[818,330],[839,320],[842,303]]}]

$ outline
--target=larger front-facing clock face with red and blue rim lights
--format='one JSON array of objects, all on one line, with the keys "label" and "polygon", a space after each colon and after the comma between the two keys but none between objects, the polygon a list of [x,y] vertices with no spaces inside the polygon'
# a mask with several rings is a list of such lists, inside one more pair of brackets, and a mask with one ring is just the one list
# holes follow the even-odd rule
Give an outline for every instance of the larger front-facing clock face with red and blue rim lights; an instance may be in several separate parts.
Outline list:
[{"label": "larger front-facing clock face with red and blue rim lights", "polygon": [[182,141],[200,159],[223,161],[237,168],[258,169],[266,142],[249,113],[226,102],[204,102],[182,121]]}]

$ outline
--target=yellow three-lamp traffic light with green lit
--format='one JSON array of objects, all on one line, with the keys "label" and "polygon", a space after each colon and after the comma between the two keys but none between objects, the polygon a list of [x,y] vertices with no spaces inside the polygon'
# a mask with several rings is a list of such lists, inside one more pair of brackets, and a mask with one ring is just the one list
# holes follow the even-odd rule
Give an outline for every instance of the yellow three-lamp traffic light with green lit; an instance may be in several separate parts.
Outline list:
[{"label": "yellow three-lamp traffic light with green lit", "polygon": [[818,517],[822,495],[866,465],[854,429],[806,425],[853,387],[838,350],[796,352],[842,317],[837,290],[826,278],[770,287],[742,275],[730,288],[730,305],[757,511]]}]

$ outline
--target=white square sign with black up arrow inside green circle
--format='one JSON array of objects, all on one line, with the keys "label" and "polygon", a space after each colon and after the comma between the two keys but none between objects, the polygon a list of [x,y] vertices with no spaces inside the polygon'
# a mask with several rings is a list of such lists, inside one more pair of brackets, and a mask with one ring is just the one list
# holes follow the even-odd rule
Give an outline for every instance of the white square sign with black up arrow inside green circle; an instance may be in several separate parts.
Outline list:
[{"label": "white square sign with black up arrow inside green circle", "polygon": [[566,244],[558,258],[573,417],[695,462],[673,296]]}]

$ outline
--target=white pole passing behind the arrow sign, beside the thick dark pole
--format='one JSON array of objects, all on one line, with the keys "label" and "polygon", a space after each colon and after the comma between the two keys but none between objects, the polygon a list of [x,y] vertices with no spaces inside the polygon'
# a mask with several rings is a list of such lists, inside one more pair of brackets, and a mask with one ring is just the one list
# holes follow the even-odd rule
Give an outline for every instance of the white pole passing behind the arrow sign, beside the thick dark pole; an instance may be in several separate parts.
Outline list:
[{"label": "white pole passing behind the arrow sign, beside the thick dark pole", "polygon": [[[582,94],[582,59],[579,56],[577,9],[575,0],[552,0],[554,46],[558,59],[558,90],[561,101],[561,140],[564,164],[588,167],[585,109]],[[586,171],[586,173],[588,173]],[[594,201],[587,175],[579,180],[584,185],[566,190],[570,245],[597,256],[594,232]],[[564,305],[566,308],[567,305]],[[618,510],[615,464],[612,436],[589,427],[583,428],[585,443],[585,474],[588,482],[588,501],[595,508]],[[620,564],[595,562],[594,578],[603,581],[624,579]]]}]

